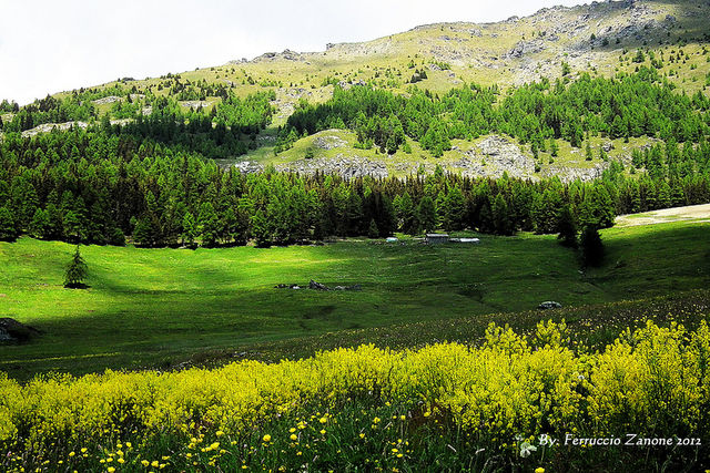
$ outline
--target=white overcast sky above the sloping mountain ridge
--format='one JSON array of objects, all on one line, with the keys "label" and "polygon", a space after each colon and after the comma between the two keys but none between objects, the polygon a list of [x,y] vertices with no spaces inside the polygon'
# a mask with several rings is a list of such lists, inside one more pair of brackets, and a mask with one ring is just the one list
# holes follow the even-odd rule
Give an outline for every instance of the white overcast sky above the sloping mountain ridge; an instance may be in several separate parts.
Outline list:
[{"label": "white overcast sky above the sloping mountain ridge", "polygon": [[487,22],[584,0],[0,0],[0,100],[123,76],[144,79],[252,59],[322,51],[439,21]]}]

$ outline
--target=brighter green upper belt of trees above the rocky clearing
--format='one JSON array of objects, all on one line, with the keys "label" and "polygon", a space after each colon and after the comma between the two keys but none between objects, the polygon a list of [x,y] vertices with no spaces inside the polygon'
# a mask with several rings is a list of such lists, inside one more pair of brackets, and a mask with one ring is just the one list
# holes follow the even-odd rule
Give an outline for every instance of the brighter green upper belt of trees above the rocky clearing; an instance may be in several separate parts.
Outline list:
[{"label": "brighter green upper belt of trees above the rocky clearing", "polygon": [[554,147],[550,138],[581,147],[590,134],[646,135],[676,143],[698,143],[708,135],[710,99],[700,92],[692,97],[678,93],[653,69],[641,66],[616,79],[582,74],[565,82],[544,80],[511,89],[505,96],[497,86],[475,84],[443,96],[414,85],[407,96],[368,86],[336,88],[332,100],[303,103],[290,116],[282,147],[303,133],[344,127],[354,130],[365,147],[374,144],[392,154],[408,136],[434,156],[450,148],[449,140],[494,132],[530,143],[534,153]]}]

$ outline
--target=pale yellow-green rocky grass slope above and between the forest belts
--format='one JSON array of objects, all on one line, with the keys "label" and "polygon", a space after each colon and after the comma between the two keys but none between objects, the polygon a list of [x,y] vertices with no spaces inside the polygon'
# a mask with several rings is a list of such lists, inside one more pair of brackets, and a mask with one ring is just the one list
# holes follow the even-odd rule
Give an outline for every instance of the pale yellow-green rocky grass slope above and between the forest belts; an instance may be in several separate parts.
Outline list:
[{"label": "pale yellow-green rocky grass slope above and between the forest belts", "polygon": [[[710,7],[699,0],[623,0],[544,9],[530,17],[514,17],[497,23],[460,21],[428,24],[363,43],[328,44],[321,52],[286,50],[265,53],[251,61],[235,60],[160,78],[125,78],[95,88],[97,96],[110,96],[93,102],[99,116],[110,113],[112,117],[120,119],[124,115],[116,112],[116,106],[125,105],[128,97],[114,96],[116,86],[123,88],[126,95],[133,94],[132,101],[141,103],[144,111],[151,110],[148,102],[143,103],[145,94],[172,96],[185,110],[197,106],[210,110],[223,100],[215,93],[216,86],[226,88],[242,97],[273,91],[276,97],[272,105],[276,113],[272,125],[257,137],[255,150],[239,157],[224,156],[226,160],[222,164],[247,161],[252,167],[254,163],[276,164],[303,171],[308,167],[328,168],[329,165],[337,168],[344,165],[342,158],[356,158],[376,162],[376,169],[366,169],[366,174],[381,175],[382,168],[386,168],[389,175],[406,175],[416,172],[419,164],[430,172],[435,160],[417,143],[410,144],[412,154],[397,153],[385,160],[374,151],[354,148],[354,140],[347,136],[346,143],[337,151],[316,152],[317,156],[323,155],[321,161],[304,164],[304,151],[312,146],[312,136],[277,156],[273,153],[274,138],[277,127],[285,123],[300,101],[324,102],[332,96],[334,84],[348,88],[351,84],[369,83],[406,94],[417,71],[425,71],[427,75],[416,83],[419,89],[444,93],[471,82],[484,86],[495,84],[505,91],[542,79],[575,80],[582,73],[590,73],[592,78],[613,76],[645,65],[657,70],[682,93],[701,91],[707,94],[710,56],[704,19],[708,13]],[[564,64],[569,66],[567,73]],[[591,137],[595,150],[600,144],[612,144],[610,160],[626,164],[632,148],[651,142],[646,137],[632,143]],[[460,164],[466,158],[465,153],[475,145],[457,143],[458,150],[452,150],[436,163],[456,172],[499,176],[503,171],[490,163],[476,162],[475,166],[468,167]],[[571,148],[569,143],[559,142],[558,146],[560,153],[556,158],[541,153],[539,174],[521,172],[521,175],[594,178],[605,167],[605,163],[585,161],[584,151]],[[521,146],[520,152],[524,156],[532,156],[529,145]],[[507,171],[511,172],[510,168]]]}]

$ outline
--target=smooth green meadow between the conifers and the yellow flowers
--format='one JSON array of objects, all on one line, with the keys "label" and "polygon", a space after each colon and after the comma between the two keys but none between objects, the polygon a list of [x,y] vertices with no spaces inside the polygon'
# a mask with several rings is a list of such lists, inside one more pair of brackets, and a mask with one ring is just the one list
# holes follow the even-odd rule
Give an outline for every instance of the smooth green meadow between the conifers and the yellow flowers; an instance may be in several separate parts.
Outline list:
[{"label": "smooth green meadow between the conifers and the yellow flowers", "polygon": [[[0,317],[44,333],[0,347],[0,370],[172,367],[200,353],[327,332],[663,296],[710,285],[710,224],[602,234],[601,268],[580,273],[554,236],[481,236],[477,246],[342,241],[257,249],[82,247],[89,289],[64,289],[73,247],[0,244]],[[361,284],[362,291],[276,289]],[[366,341],[366,340],[363,340]],[[419,338],[419,341],[424,341]]]}]

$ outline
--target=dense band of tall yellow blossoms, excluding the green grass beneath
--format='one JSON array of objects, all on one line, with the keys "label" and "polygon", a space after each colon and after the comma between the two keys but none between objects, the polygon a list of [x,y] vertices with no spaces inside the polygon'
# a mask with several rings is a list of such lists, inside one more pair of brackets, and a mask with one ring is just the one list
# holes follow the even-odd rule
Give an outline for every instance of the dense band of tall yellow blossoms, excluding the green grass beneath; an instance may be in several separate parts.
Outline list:
[{"label": "dense band of tall yellow blossoms, excluding the green grass beneath", "polygon": [[[362,346],[274,364],[54,376],[26,385],[0,373],[0,446],[18,451],[61,438],[79,451],[84,440],[109,432],[189,436],[195,425],[219,431],[217,436],[239,435],[276,415],[349,398],[409,405],[423,420],[446,417],[470,434],[501,443],[519,433],[707,434],[710,329],[704,322],[693,332],[649,322],[601,353],[571,350],[564,323],[540,323],[530,340],[491,326],[478,348]],[[318,413],[313,423],[329,432],[329,422]],[[263,442],[271,439],[264,435]]]}]

